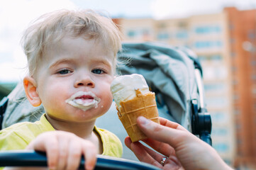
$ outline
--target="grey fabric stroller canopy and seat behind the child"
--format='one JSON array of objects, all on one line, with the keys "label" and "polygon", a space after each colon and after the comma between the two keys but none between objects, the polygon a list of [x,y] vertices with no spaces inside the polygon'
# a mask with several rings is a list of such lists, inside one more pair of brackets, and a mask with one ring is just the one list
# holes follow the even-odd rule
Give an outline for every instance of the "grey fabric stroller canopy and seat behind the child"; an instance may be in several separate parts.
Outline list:
[{"label": "grey fabric stroller canopy and seat behind the child", "polygon": [[[118,59],[129,61],[118,67],[118,74],[137,73],[145,77],[150,90],[155,92],[160,117],[181,124],[211,145],[211,115],[204,103],[203,72],[194,52],[156,42],[123,43]],[[44,111],[43,106],[30,106],[21,89],[22,84],[18,84],[0,103],[2,128],[21,121],[35,121]],[[114,102],[109,111],[96,120],[96,126],[113,132],[122,142],[127,136],[124,128],[116,128],[123,126]],[[126,147],[123,158],[137,160]]]}]

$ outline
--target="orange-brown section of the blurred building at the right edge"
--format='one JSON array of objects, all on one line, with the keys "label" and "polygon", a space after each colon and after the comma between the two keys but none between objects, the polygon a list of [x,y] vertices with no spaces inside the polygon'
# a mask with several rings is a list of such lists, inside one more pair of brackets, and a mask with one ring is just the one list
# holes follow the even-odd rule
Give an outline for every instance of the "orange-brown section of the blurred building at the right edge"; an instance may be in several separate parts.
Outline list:
[{"label": "orange-brown section of the blurred building at the right edge", "polygon": [[228,16],[237,157],[256,169],[256,9],[225,8]]}]

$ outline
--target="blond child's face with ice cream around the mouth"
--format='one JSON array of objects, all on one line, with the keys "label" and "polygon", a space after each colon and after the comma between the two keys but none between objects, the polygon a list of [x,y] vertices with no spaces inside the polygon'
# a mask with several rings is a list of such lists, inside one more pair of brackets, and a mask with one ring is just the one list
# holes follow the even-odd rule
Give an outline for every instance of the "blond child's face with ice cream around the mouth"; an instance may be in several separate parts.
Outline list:
[{"label": "blond child's face with ice cream around the mouth", "polygon": [[65,36],[48,47],[35,79],[50,118],[95,120],[112,103],[113,53],[100,40]]}]

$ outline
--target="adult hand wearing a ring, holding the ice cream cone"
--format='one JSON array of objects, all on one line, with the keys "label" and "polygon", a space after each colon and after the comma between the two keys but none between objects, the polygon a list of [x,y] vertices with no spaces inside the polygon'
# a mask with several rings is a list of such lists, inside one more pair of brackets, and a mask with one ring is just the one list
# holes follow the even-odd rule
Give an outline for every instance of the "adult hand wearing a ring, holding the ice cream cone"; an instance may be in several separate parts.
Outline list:
[{"label": "adult hand wearing a ring, holding the ice cream cone", "polygon": [[[215,149],[179,125],[160,118],[160,125],[142,116],[138,127],[149,138],[143,140],[152,150],[140,142],[131,142],[126,137],[125,144],[141,162],[161,169],[231,169]],[[163,157],[165,162],[160,163]]]}]

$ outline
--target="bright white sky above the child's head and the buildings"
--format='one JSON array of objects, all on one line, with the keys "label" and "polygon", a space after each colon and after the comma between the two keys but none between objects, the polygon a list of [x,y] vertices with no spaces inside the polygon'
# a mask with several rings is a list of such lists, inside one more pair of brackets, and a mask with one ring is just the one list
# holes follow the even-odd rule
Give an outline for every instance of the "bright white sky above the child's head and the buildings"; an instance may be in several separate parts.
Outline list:
[{"label": "bright white sky above the child's head and the buildings", "polygon": [[218,13],[225,6],[256,8],[256,0],[0,0],[0,83],[20,81],[26,56],[20,40],[29,23],[60,8],[104,10],[113,18],[182,18]]}]

